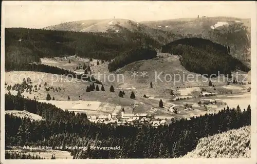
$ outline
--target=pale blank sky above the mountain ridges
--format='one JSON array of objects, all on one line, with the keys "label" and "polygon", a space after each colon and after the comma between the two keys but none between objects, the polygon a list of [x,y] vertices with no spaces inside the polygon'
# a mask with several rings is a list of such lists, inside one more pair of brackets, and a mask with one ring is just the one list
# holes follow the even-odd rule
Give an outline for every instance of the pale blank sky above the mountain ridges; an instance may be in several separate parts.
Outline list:
[{"label": "pale blank sky above the mountain ridges", "polygon": [[250,18],[254,1],[3,1],[5,27],[44,28],[86,19],[136,22],[199,16]]}]

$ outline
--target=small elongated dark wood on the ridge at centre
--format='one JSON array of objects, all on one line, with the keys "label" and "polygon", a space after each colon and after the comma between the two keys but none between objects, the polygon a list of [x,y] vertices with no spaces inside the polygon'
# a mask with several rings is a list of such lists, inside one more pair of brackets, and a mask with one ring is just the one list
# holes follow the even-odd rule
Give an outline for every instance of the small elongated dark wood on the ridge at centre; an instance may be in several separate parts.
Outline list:
[{"label": "small elongated dark wood on the ridge at centre", "polygon": [[157,52],[151,49],[135,49],[132,51],[124,52],[119,56],[116,56],[112,63],[109,63],[109,71],[115,71],[118,68],[121,68],[127,64],[133,63],[138,60],[146,60],[157,57]]}]

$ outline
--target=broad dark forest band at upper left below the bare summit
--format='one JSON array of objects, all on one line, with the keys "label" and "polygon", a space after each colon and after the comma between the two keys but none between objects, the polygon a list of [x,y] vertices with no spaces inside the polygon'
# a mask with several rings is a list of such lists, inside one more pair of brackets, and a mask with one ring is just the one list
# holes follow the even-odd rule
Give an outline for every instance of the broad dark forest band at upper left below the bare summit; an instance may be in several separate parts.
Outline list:
[{"label": "broad dark forest band at upper left below the bare summit", "polygon": [[160,44],[146,34],[124,31],[123,33],[92,33],[52,31],[43,29],[6,28],[5,60],[16,63],[40,61],[40,57],[77,54],[81,57],[112,59],[134,48]]}]

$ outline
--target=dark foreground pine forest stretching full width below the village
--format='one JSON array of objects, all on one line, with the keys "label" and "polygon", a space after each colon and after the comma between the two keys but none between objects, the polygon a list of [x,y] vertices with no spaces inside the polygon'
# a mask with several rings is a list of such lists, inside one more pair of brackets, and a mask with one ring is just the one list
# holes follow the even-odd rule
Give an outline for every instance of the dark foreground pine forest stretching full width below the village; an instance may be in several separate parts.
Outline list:
[{"label": "dark foreground pine forest stretching full width below the village", "polygon": [[[72,150],[74,158],[174,158],[196,148],[200,138],[250,125],[251,108],[223,109],[191,119],[181,118],[169,126],[112,126],[95,124],[85,114],[63,111],[53,105],[19,96],[5,95],[5,110],[27,110],[44,120],[31,121],[5,115],[5,144],[84,146]],[[90,146],[120,147],[120,150],[90,150]]]}]

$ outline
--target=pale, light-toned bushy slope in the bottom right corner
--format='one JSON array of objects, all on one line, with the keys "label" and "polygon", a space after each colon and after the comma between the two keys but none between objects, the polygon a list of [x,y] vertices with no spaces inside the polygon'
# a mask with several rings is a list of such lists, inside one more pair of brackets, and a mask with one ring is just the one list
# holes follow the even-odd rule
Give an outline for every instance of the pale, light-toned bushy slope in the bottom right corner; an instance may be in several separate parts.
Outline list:
[{"label": "pale, light-toned bushy slope in the bottom right corner", "polygon": [[184,158],[250,158],[250,126],[201,138]]}]

